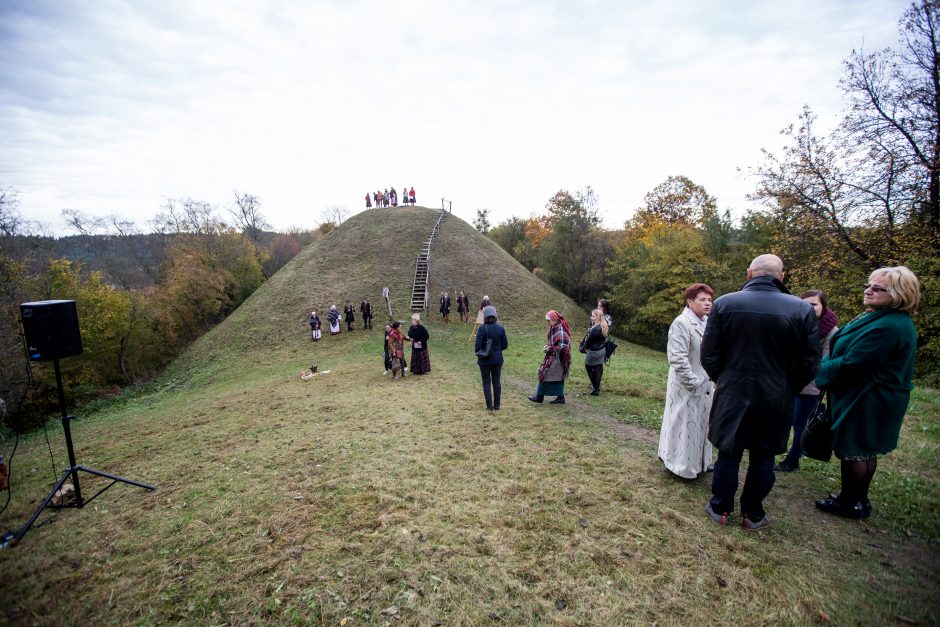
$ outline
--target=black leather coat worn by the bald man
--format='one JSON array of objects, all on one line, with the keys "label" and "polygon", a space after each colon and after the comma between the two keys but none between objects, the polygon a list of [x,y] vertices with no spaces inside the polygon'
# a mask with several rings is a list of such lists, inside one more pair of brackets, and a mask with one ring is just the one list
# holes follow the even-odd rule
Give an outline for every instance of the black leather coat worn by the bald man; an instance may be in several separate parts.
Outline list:
[{"label": "black leather coat worn by the bald man", "polygon": [[793,398],[816,374],[813,308],[771,276],[715,301],[702,338],[702,367],[717,389],[708,439],[718,450],[787,450]]}]

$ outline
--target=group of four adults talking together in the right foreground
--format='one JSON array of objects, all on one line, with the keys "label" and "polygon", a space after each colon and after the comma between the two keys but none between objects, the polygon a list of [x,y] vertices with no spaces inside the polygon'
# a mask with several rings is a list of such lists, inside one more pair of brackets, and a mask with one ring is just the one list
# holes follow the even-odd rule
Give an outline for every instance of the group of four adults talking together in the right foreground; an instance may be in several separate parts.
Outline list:
[{"label": "group of four adults talking together in the right foreground", "polygon": [[[669,329],[659,457],[683,479],[713,473],[705,512],[724,525],[734,512],[748,451],[740,496],[748,531],[770,526],[763,501],[774,473],[799,470],[801,436],[816,416],[821,433],[831,435],[826,444],[841,460],[842,475],[840,493],[817,500],[816,507],[869,517],[878,455],[897,447],[913,387],[917,335],[911,315],[920,301],[913,272],[904,266],[875,270],[862,286],[865,311],[842,328],[825,292],[809,290],[797,298],[783,278],[783,262],[766,254],[751,262],[740,291],[714,302],[710,286],[690,285],[685,308]],[[718,456],[711,466],[713,446]],[[775,463],[781,453],[786,456]]]}]

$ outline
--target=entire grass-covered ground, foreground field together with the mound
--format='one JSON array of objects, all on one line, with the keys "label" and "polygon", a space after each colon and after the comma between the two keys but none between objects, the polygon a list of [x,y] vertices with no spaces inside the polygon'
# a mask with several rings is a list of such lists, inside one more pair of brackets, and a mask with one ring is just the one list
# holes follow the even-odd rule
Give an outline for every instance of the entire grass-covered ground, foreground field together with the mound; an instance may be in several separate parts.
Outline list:
[{"label": "entire grass-covered ground, foreground field together with the mound", "polygon": [[[586,316],[456,218],[435,242],[431,286],[493,297],[510,339],[500,412],[484,409],[472,324],[432,315],[432,373],[395,381],[382,374],[378,326],[309,341],[311,307],[366,295],[377,305],[386,282],[404,317],[435,218],[421,208],[354,217],[159,381],[82,409],[80,463],[159,489],[115,486],[0,552],[0,620],[940,620],[935,390],[915,392],[900,448],[879,463],[869,520],[818,513],[813,500],[838,484],[838,466],[807,462],[778,477],[769,530],[718,527],[702,511],[707,480],[673,479],[656,457],[664,356],[622,342],[599,398],[585,394],[576,356],[569,403],[530,403],[544,311],[574,329]],[[330,374],[301,381],[313,363]],[[61,468],[57,421],[49,436]],[[21,442],[13,470],[8,527],[53,482],[42,432]]]}]

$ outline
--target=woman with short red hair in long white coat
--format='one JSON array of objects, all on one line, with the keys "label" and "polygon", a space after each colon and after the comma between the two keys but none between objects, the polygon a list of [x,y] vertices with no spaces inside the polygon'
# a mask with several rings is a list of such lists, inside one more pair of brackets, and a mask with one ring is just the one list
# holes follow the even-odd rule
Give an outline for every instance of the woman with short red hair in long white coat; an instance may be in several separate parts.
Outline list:
[{"label": "woman with short red hair in long white coat", "polygon": [[659,458],[669,472],[683,479],[695,479],[712,460],[708,412],[714,386],[702,368],[700,349],[714,293],[704,283],[690,285],[685,290],[685,309],[669,327],[669,381]]}]

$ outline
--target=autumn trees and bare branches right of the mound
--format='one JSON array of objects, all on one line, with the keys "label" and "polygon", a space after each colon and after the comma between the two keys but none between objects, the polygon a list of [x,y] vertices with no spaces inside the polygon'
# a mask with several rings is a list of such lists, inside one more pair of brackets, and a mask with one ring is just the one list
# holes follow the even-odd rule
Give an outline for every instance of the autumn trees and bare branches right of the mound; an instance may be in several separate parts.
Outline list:
[{"label": "autumn trees and bare branches right of the mound", "polygon": [[689,284],[740,288],[757,254],[784,259],[791,291],[823,289],[847,322],[861,284],[881,266],[920,278],[918,376],[940,381],[940,9],[913,3],[893,48],[853,51],[840,87],[840,124],[821,134],[805,107],[779,154],[750,168],[760,209],[732,220],[683,176],[651,190],[622,230],[600,227],[590,188],[559,191],[545,212],[474,225],[576,302],[606,296],[619,333],[662,348]]}]

